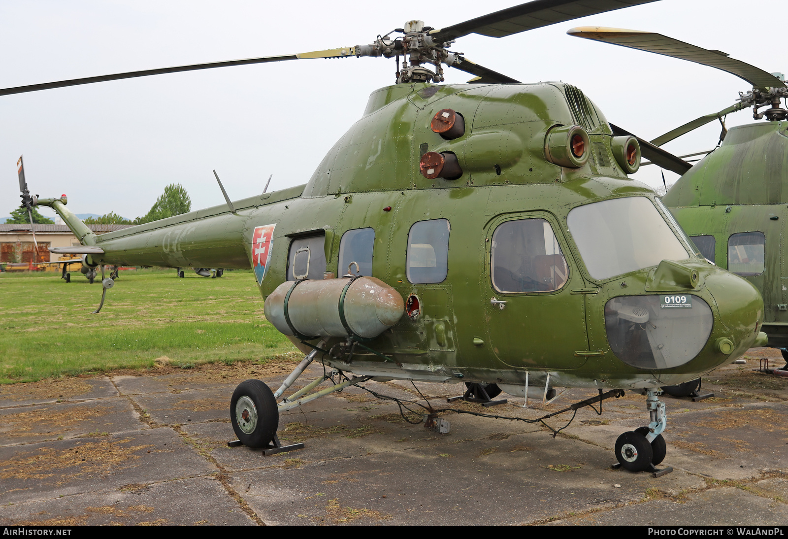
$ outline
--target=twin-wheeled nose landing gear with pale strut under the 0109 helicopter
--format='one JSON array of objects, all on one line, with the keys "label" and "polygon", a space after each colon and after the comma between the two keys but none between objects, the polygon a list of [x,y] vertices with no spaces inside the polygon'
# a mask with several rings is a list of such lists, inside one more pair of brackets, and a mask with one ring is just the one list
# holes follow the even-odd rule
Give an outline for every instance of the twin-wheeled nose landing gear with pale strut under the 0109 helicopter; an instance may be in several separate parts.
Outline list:
[{"label": "twin-wheeled nose landing gear with pale strut under the 0109 helicopter", "polygon": [[649,426],[623,433],[615,440],[615,458],[619,463],[614,464],[613,468],[623,467],[635,472],[649,471],[655,478],[673,471],[671,467],[662,470],[656,468],[667,453],[667,445],[662,437],[662,431],[667,425],[667,414],[665,403],[659,399],[661,392],[660,389],[648,390],[645,403],[651,418]]}]

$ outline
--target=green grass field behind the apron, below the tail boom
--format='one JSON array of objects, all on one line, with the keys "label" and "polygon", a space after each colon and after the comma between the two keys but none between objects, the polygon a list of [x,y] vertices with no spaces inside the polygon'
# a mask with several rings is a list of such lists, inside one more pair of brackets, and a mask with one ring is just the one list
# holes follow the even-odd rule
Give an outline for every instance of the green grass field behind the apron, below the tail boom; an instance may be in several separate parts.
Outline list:
[{"label": "green grass field behind the apron, below the tail boom", "polygon": [[[122,271],[101,313],[100,278],[0,273],[0,384],[160,362],[262,362],[296,348],[266,322],[251,270],[218,279]],[[164,358],[164,359],[162,359]]]}]

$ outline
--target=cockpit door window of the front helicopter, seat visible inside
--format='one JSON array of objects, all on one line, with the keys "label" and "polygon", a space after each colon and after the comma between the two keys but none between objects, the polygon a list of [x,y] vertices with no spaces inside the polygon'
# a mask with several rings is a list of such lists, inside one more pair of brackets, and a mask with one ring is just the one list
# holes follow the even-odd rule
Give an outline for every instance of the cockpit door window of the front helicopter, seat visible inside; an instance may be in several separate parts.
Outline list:
[{"label": "cockpit door window of the front helicopter, seat visible inside", "polygon": [[567,261],[548,221],[507,221],[492,234],[492,287],[498,292],[552,292],[569,278]]}]

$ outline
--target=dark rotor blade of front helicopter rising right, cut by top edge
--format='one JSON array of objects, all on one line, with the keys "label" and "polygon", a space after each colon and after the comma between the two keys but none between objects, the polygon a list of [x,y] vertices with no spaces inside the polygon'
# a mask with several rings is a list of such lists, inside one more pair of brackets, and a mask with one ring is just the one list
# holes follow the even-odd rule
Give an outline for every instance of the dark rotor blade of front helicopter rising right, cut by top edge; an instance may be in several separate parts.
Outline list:
[{"label": "dark rotor blade of front helicopter rising right, cut by top edge", "polygon": [[656,0],[534,0],[534,2],[501,9],[495,13],[488,13],[446,28],[439,28],[429,34],[440,43],[468,34],[504,37],[533,30],[533,28],[541,28],[550,24],[648,4],[649,2],[656,2]]}]

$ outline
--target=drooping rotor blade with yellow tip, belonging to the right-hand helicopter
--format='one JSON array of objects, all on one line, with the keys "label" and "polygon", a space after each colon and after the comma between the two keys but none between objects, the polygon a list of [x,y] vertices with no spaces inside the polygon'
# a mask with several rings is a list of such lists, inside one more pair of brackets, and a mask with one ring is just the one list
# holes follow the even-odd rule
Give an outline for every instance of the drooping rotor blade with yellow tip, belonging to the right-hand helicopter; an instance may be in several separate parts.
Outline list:
[{"label": "drooping rotor blade with yellow tip, belonging to the right-hand helicopter", "polygon": [[701,46],[684,43],[667,35],[623,28],[604,28],[602,26],[572,28],[567,34],[593,39],[594,41],[604,41],[614,45],[628,46],[631,49],[646,50],[655,54],[670,56],[671,58],[694,61],[696,64],[708,65],[738,76],[752,84],[753,87],[764,91],[770,87],[786,87],[782,80],[779,80],[771,73],[756,68],[745,61],[730,58],[721,50],[704,49]]}]

